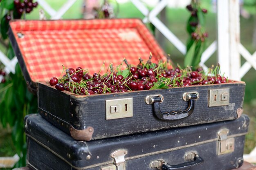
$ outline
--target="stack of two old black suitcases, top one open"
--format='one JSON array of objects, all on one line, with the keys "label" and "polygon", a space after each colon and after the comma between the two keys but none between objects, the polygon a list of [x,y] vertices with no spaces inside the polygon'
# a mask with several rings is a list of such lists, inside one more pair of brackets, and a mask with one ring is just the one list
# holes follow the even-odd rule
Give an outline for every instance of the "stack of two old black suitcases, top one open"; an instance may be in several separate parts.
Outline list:
[{"label": "stack of two old black suitcases, top one open", "polygon": [[[243,163],[244,82],[79,96],[49,86],[61,66],[164,60],[137,19],[14,21],[10,40],[39,114],[25,118],[33,170],[230,170]],[[84,61],[84,62],[82,62]],[[119,108],[113,112],[112,108]]]}]

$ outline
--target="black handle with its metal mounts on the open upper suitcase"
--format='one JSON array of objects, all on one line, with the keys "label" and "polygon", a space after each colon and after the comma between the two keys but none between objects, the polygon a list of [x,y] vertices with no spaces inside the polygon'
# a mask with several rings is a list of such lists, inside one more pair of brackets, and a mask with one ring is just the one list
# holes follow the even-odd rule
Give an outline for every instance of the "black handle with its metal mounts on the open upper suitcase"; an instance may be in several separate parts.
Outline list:
[{"label": "black handle with its metal mounts on the open upper suitcase", "polygon": [[[166,112],[166,113],[163,113],[160,110],[160,106],[159,106],[159,103],[162,103],[162,101],[163,101],[162,95],[147,96],[146,102],[148,102],[148,104],[153,104],[154,113],[158,119],[172,121],[172,120],[183,119],[185,117],[190,116],[193,113],[193,110],[195,108],[195,99],[198,99],[198,97],[199,97],[199,95],[197,92],[184,93],[183,99],[185,101],[189,102],[188,108],[186,108],[185,110],[170,111],[170,112]],[[174,116],[174,115],[176,115],[176,116]]]}]

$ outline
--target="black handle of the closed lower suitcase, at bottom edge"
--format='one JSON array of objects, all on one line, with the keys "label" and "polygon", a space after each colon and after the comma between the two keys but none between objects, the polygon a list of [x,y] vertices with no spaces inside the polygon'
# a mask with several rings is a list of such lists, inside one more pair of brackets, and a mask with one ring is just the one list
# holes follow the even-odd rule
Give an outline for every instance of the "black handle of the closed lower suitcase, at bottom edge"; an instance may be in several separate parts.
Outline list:
[{"label": "black handle of the closed lower suitcase, at bottom edge", "polygon": [[204,162],[204,159],[202,159],[199,155],[197,155],[196,157],[194,157],[192,161],[180,163],[177,165],[170,165],[164,162],[161,166],[161,170],[183,170],[186,168],[191,168],[193,166],[200,165],[203,162]]}]

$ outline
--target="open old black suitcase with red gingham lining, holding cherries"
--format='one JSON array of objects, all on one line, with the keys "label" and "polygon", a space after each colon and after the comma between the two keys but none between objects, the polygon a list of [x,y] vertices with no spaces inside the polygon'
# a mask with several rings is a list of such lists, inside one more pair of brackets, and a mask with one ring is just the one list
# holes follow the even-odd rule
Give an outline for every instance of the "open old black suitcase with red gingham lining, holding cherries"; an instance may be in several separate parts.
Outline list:
[{"label": "open old black suitcase with red gingham lining, holding cherries", "polygon": [[37,89],[40,115],[76,140],[231,120],[243,112],[244,82],[90,96],[47,84],[61,75],[62,64],[94,73],[103,61],[118,64],[126,57],[137,64],[150,52],[154,61],[164,59],[140,20],[17,20],[10,28],[27,84]]}]

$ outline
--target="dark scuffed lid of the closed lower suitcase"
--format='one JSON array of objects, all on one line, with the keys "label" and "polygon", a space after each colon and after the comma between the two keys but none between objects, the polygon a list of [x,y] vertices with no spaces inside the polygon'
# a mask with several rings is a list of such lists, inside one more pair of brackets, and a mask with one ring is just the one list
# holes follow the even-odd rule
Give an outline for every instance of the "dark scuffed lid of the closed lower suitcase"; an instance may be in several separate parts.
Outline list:
[{"label": "dark scuffed lid of the closed lower suitcase", "polygon": [[[117,150],[128,151],[125,159],[130,160],[182,148],[188,148],[189,151],[195,146],[210,142],[216,142],[217,147],[218,141],[222,140],[220,135],[223,139],[226,139],[224,133],[219,132],[228,129],[227,139],[244,136],[248,131],[248,126],[249,117],[241,115],[240,118],[232,121],[158,130],[93,141],[76,141],[38,114],[25,117],[27,137],[61,158],[72,169],[77,170],[114,163],[114,159],[110,155]],[[238,141],[236,142],[238,144]],[[217,150],[217,148],[212,148],[210,152],[218,152]]]}]

